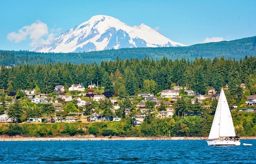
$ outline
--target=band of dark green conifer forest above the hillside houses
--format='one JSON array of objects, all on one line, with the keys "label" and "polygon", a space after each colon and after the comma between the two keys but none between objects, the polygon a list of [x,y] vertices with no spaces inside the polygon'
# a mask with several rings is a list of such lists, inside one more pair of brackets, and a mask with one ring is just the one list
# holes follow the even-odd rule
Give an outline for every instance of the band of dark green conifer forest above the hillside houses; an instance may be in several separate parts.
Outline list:
[{"label": "band of dark green conifer forest above the hillside houses", "polygon": [[137,93],[158,93],[171,86],[188,86],[189,89],[204,94],[208,86],[220,90],[228,85],[231,105],[240,102],[241,83],[246,84],[248,94],[256,92],[256,57],[244,59],[213,60],[196,58],[193,62],[186,59],[160,60],[144,58],[116,59],[97,64],[24,64],[14,67],[1,67],[0,89],[18,91],[39,86],[43,93],[50,93],[56,85],[65,88],[72,84],[83,83],[86,87],[92,83],[105,87],[120,97]]}]

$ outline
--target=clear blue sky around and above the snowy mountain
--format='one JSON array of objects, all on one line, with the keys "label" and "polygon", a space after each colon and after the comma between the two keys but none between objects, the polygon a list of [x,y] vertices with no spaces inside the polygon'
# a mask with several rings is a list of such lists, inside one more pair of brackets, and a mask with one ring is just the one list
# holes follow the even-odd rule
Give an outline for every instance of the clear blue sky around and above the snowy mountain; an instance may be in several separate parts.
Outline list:
[{"label": "clear blue sky around and above the snowy mountain", "polygon": [[[113,16],[129,26],[144,23],[186,45],[256,36],[255,0],[0,0],[0,4],[2,50],[30,50],[94,15]],[[9,33],[35,22],[47,29],[41,33],[43,40],[38,34],[19,36],[16,43],[7,39]]]}]

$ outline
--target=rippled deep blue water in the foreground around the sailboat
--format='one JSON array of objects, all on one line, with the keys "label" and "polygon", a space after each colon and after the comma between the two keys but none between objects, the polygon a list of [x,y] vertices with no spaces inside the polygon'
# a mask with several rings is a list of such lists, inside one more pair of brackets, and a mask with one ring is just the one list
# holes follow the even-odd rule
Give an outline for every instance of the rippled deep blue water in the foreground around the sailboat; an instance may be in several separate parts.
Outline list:
[{"label": "rippled deep blue water in the foreground around the sailboat", "polygon": [[29,141],[0,146],[0,163],[256,163],[256,140],[229,147],[208,146],[204,140]]}]

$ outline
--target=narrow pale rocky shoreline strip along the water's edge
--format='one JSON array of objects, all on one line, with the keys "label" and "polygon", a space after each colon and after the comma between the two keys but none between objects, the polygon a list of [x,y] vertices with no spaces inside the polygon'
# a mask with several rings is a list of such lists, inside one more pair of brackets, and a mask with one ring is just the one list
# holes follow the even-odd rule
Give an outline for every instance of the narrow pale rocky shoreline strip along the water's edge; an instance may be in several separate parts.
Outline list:
[{"label": "narrow pale rocky shoreline strip along the water's edge", "polygon": [[[138,140],[207,140],[208,137],[94,137],[94,136],[74,136],[74,137],[2,137],[0,141],[138,141]],[[241,140],[256,140],[255,136],[240,137]]]}]

